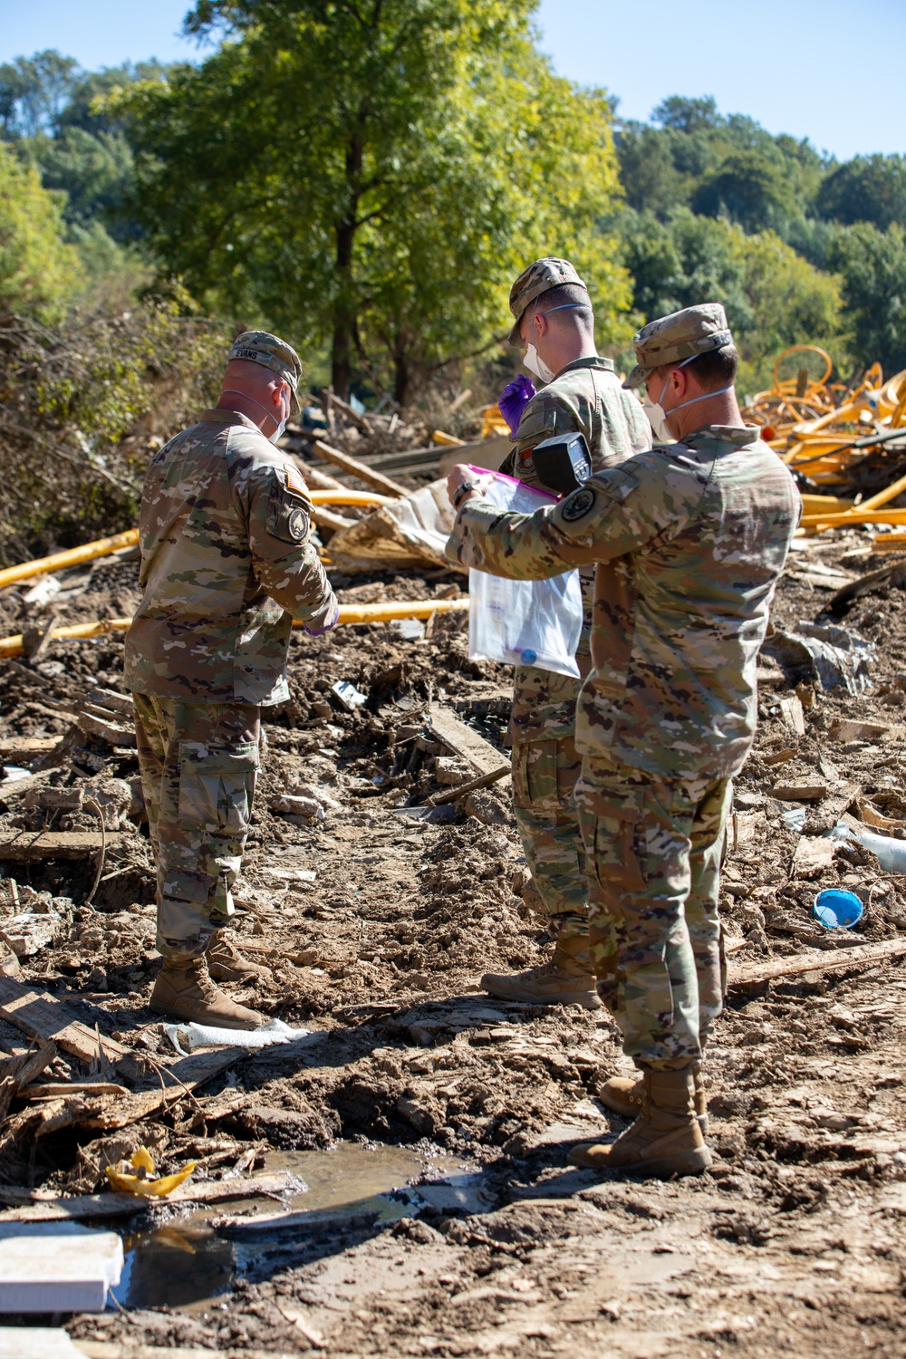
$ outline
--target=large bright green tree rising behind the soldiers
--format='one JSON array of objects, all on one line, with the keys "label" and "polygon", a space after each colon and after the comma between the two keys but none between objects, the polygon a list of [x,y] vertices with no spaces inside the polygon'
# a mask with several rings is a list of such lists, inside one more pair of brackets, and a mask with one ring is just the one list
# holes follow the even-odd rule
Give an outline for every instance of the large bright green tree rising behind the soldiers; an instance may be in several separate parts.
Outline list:
[{"label": "large bright green tree rising behind the soldiers", "polygon": [[505,325],[512,277],[577,255],[602,319],[628,299],[596,216],[610,107],[531,43],[535,0],[201,0],[227,41],[114,102],[136,216],[164,266],[234,315],[330,345],[405,401]]}]

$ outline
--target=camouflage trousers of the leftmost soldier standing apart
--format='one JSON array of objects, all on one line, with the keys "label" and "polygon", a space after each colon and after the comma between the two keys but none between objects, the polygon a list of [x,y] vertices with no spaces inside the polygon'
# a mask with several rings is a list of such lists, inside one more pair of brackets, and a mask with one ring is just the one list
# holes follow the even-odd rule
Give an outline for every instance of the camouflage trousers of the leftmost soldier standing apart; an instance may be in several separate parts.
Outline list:
[{"label": "camouflage trousers of the leftmost soldier standing apart", "polygon": [[249,833],[261,709],[132,697],[158,867],[158,950],[197,957],[234,913],[230,889]]}]

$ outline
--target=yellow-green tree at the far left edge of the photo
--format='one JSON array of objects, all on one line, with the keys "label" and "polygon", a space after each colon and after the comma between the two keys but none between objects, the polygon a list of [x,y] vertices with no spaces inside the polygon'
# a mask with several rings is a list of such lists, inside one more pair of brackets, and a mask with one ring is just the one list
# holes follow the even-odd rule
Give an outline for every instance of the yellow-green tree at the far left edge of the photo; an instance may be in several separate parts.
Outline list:
[{"label": "yellow-green tree at the far left edge of the photo", "polygon": [[60,197],[0,143],[0,310],[54,319],[76,289],[77,265]]}]

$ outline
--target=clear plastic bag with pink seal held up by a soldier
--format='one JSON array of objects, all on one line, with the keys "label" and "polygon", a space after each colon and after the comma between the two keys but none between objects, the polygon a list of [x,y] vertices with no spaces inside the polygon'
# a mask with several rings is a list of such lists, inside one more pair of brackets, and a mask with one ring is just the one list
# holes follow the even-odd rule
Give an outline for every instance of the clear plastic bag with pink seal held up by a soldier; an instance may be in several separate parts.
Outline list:
[{"label": "clear plastic bag with pink seal held up by a soldier", "polygon": [[[484,472],[475,467],[475,472]],[[485,492],[501,510],[534,514],[557,496],[513,477],[494,473]],[[511,666],[541,666],[579,677],[576,647],[581,633],[581,586],[577,571],[550,580],[505,580],[486,571],[469,572],[469,656]]]}]

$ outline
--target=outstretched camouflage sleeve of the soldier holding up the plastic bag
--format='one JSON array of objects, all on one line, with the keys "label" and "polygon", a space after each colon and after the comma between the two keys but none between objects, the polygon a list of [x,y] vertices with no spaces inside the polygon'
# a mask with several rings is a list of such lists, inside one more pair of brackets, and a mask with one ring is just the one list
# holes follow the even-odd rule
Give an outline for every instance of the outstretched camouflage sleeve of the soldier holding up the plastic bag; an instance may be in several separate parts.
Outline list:
[{"label": "outstretched camouflage sleeve of the soldier holding up the plastic bag", "polygon": [[697,485],[678,503],[662,470],[651,455],[632,458],[530,515],[469,500],[456,515],[447,556],[511,580],[547,580],[569,567],[622,557],[671,537],[701,499],[704,485]]}]

